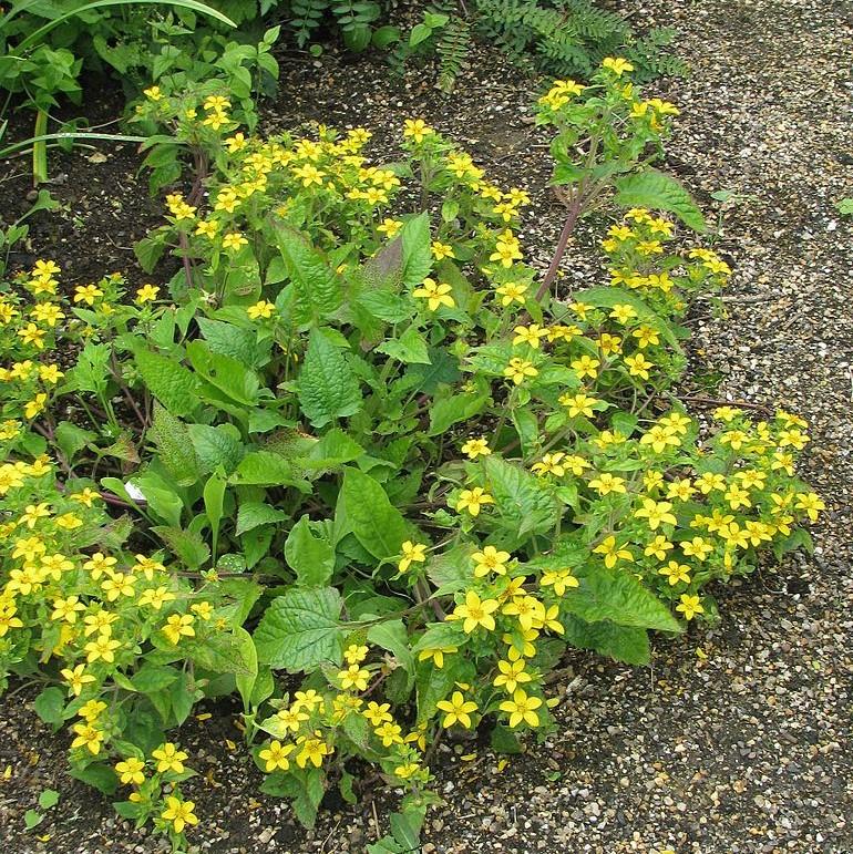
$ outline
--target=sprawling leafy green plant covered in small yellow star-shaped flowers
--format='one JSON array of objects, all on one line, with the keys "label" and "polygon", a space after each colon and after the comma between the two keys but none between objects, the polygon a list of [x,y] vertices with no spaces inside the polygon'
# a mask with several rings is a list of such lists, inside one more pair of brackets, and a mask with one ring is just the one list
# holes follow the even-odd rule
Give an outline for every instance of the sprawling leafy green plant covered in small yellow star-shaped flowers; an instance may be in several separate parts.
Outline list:
[{"label": "sprawling leafy green plant covered in small yellow star-shaped flowers", "polygon": [[151,120],[206,163],[140,247],[176,256],[171,282],[64,294],[50,260],[10,282],[0,661],[45,683],[72,773],[123,815],[185,844],[168,732],[237,693],[267,793],[310,822],[372,763],[409,792],[377,850],[403,850],[446,730],[517,749],[553,727],[566,645],[641,663],[649,629],[713,617],[709,583],[808,543],[804,423],[720,408],[700,436],[670,393],[690,296],[729,270],[649,209],[701,227],[648,166],[675,109],[630,70],[538,104],[562,248],[627,207],[608,286],[539,279],[524,194],[418,119],[372,165],[364,131],[257,140],[227,94],[161,93]]}]

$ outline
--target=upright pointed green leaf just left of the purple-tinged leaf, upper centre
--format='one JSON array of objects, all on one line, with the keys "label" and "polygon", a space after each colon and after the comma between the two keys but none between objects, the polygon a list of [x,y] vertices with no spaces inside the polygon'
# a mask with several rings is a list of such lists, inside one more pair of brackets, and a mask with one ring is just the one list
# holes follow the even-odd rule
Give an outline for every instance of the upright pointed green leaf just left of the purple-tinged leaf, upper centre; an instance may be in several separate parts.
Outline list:
[{"label": "upright pointed green leaf just left of the purple-tinged leaf, upper centre", "polygon": [[319,326],[343,303],[341,279],[299,231],[277,226],[275,234],[289,279],[287,287],[294,291],[294,320],[299,326]]}]

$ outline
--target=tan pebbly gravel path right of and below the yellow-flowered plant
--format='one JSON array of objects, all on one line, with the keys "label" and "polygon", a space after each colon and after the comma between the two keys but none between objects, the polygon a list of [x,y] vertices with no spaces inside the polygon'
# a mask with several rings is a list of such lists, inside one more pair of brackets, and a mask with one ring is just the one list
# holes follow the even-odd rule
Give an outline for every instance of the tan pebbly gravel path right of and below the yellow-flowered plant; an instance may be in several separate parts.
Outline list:
[{"label": "tan pebbly gravel path right of and below the yellow-flowered plant", "polygon": [[[853,224],[841,222],[832,203],[853,195],[853,24],[843,20],[845,3],[833,0],[625,6],[637,20],[684,34],[692,75],[666,93],[684,111],[669,146],[671,168],[703,203],[715,191],[734,194],[720,212],[720,248],[736,269],[728,317],[712,317],[709,306],[697,318],[695,373],[721,377],[718,393],[810,420],[813,444],[802,474],[829,511],[814,532],[813,556],[769,562],[747,583],[720,590],[720,624],[658,641],[652,667],[578,656],[562,686],[561,737],[501,773],[486,750],[473,761],[460,755],[467,745],[445,751],[438,786],[449,807],[428,820],[423,851],[850,854]],[[525,91],[491,78],[465,97],[492,97],[525,138]],[[388,113],[399,123],[423,99],[409,92]],[[484,127],[489,121],[482,117]],[[504,161],[497,144],[492,150],[513,174],[514,158]],[[541,179],[535,171],[526,177]],[[556,215],[552,207],[542,231],[558,227]],[[575,261],[573,272],[586,271]],[[154,842],[129,838],[109,804],[79,786],[69,791],[55,771],[58,742],[40,730],[44,755],[28,765],[35,726],[28,720],[0,720],[0,770],[7,761],[16,765],[11,781],[0,779],[7,850],[157,851]],[[258,775],[241,757],[213,750],[201,727],[187,738],[214,754],[195,763],[215,769],[196,798],[199,812],[213,816],[199,833],[204,850],[361,852],[376,838],[370,809],[332,806],[315,832],[295,829],[282,805],[253,801]],[[21,814],[51,782],[68,796],[39,829],[51,834],[40,843],[19,830]],[[209,800],[222,810],[209,809]],[[377,809],[382,830],[386,809]]]}]

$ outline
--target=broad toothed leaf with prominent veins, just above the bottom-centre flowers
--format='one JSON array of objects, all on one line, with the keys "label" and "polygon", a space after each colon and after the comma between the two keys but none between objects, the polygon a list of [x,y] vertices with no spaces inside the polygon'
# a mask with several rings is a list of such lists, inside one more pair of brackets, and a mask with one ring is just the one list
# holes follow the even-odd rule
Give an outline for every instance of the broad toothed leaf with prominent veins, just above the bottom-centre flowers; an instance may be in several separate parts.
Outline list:
[{"label": "broad toothed leaf with prominent veins, just above the bottom-centre flowers", "polygon": [[291,673],[310,672],[326,661],[340,663],[346,637],[341,605],[333,587],[294,587],[273,599],[255,629],[258,661]]}]

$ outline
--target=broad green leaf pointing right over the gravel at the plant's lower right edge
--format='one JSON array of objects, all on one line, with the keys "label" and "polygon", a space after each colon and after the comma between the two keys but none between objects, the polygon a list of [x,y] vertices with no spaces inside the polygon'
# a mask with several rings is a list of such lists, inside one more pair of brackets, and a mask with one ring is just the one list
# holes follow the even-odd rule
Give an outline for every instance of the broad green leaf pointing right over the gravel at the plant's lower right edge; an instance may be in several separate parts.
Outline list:
[{"label": "broad green leaf pointing right over the gravel at the plant's lower right edge", "polygon": [[567,590],[563,607],[569,614],[598,623],[610,620],[617,626],[681,632],[684,628],[654,594],[628,570],[590,569],[577,572],[580,586]]}]

